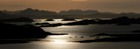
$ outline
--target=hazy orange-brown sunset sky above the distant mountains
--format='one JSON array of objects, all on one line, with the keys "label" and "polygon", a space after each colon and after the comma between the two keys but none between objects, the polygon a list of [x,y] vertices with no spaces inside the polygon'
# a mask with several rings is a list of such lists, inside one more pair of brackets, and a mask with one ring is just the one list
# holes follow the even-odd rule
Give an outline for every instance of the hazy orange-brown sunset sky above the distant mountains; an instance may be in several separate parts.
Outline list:
[{"label": "hazy orange-brown sunset sky above the distant mountains", "polygon": [[140,13],[140,0],[0,0],[0,10],[26,8],[51,11],[81,9]]}]

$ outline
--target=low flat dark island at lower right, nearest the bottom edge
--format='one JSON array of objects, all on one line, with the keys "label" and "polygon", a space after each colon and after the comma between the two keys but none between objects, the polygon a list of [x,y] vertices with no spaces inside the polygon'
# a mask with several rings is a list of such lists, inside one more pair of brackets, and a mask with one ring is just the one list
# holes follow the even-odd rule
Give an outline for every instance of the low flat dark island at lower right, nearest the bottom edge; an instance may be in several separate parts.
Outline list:
[{"label": "low flat dark island at lower right, nearest the bottom edge", "polygon": [[[104,36],[104,38],[100,38],[102,36]],[[101,34],[93,35],[93,37],[96,39],[81,40],[81,41],[74,41],[74,42],[91,43],[91,42],[139,42],[140,41],[140,33],[131,33],[131,34],[101,33]]]}]

